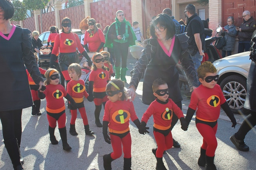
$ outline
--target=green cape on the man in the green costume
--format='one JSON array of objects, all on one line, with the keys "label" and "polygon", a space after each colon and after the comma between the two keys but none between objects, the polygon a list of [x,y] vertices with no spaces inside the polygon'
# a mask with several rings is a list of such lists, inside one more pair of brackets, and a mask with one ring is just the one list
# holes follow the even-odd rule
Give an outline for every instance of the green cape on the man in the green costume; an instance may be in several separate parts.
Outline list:
[{"label": "green cape on the man in the green costume", "polygon": [[[116,23],[117,23],[118,27],[120,27],[121,22],[118,21],[117,17],[116,17],[115,20],[116,20],[116,21],[113,22],[113,23],[110,25],[110,27],[111,27],[113,24],[116,24]],[[132,29],[132,26],[131,26],[130,22],[129,22],[129,21],[126,21],[125,18],[124,18],[124,21],[123,21],[123,22],[124,22],[126,25],[130,26],[130,29],[131,29],[131,32],[132,32],[132,39],[128,38],[129,46],[135,45],[135,41],[137,40],[137,38],[136,38],[136,35],[134,34],[134,31],[133,31],[133,29]],[[109,28],[110,28],[110,27],[109,27]],[[108,29],[108,31],[109,31],[109,29]],[[107,32],[107,34],[106,34],[106,40],[105,40],[104,47],[113,48],[113,39],[108,38],[108,32]]]}]

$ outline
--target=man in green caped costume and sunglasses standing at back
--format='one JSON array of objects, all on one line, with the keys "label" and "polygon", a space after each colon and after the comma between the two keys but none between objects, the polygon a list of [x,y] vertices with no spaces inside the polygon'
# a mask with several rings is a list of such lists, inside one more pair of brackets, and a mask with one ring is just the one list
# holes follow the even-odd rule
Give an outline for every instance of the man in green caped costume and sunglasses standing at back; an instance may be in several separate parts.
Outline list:
[{"label": "man in green caped costume and sunglasses standing at back", "polygon": [[[126,82],[128,47],[135,45],[137,38],[130,22],[125,20],[123,11],[118,10],[116,12],[115,20],[108,29],[104,47],[114,49],[116,78],[121,78],[122,81]],[[120,66],[121,58],[122,64]]]}]

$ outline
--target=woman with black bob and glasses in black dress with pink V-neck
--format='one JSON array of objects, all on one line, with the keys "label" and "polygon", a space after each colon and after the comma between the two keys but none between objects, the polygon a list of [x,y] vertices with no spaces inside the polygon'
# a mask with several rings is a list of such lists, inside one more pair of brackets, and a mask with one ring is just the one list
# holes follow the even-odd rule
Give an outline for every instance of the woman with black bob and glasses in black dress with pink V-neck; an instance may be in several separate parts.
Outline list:
[{"label": "woman with black bob and glasses in black dress with pink V-neck", "polygon": [[[169,98],[182,109],[179,73],[175,67],[179,60],[191,87],[198,86],[194,64],[187,49],[188,36],[186,36],[186,33],[175,35],[174,23],[167,14],[159,14],[154,19],[150,27],[150,33],[152,39],[144,41],[144,46],[146,47],[134,66],[134,75],[127,95],[130,100],[134,100],[135,90],[142,74],[144,74],[142,102],[150,105],[155,100],[152,90],[153,81],[157,78],[162,78],[168,85]],[[177,121],[178,117],[173,114],[172,124],[168,130],[172,130]],[[173,140],[173,146],[180,147],[175,140]]]}]

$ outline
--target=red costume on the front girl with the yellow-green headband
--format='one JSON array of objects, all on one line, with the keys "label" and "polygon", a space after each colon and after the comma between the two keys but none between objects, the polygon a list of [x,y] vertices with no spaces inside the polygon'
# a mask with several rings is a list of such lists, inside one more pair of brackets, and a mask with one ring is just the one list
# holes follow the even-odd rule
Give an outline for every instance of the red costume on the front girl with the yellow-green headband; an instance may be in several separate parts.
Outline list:
[{"label": "red costume on the front girl with the yellow-green headband", "polygon": [[[124,158],[131,158],[131,135],[129,120],[138,119],[132,102],[118,100],[116,102],[106,102],[103,121],[108,121],[108,129],[113,148],[112,159],[117,159],[124,151]],[[122,149],[123,145],[123,149]]]}]

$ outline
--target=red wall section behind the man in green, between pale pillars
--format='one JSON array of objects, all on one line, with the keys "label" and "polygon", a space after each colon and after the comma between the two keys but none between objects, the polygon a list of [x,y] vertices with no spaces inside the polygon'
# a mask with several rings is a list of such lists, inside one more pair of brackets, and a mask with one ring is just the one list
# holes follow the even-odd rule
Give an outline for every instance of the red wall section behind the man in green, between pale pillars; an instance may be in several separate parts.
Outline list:
[{"label": "red wall section behind the man in green, between pale pillars", "polygon": [[102,25],[104,29],[107,25],[111,25],[116,18],[116,11],[124,11],[124,16],[132,25],[132,9],[131,0],[103,0],[90,3],[91,18]]}]

